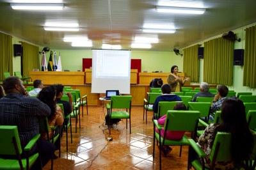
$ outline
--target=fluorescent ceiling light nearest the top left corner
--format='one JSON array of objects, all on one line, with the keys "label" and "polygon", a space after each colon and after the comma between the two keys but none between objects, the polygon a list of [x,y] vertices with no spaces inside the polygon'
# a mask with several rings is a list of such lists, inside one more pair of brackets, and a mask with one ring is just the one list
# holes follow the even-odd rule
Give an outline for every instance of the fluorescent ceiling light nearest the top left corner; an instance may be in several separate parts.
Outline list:
[{"label": "fluorescent ceiling light nearest the top left corner", "polygon": [[11,3],[13,10],[63,10],[64,4]]}]

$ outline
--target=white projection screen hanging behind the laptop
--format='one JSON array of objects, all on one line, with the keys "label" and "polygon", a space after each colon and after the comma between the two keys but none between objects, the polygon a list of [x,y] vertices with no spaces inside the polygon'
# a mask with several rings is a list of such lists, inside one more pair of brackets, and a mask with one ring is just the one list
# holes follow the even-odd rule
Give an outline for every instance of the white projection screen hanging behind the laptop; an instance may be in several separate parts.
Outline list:
[{"label": "white projection screen hanging behind the laptop", "polygon": [[92,50],[92,93],[116,89],[130,94],[130,77],[130,50]]}]

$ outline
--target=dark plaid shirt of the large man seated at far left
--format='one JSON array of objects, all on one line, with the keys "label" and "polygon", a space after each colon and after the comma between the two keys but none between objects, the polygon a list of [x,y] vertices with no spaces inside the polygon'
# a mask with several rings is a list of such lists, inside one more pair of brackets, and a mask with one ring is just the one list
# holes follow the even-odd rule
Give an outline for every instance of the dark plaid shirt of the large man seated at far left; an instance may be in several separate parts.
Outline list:
[{"label": "dark plaid shirt of the large man seated at far left", "polygon": [[[10,93],[0,99],[0,125],[17,125],[22,148],[39,134],[38,118],[45,118],[50,114],[48,105],[35,97]],[[30,153],[34,153],[35,147]]]}]

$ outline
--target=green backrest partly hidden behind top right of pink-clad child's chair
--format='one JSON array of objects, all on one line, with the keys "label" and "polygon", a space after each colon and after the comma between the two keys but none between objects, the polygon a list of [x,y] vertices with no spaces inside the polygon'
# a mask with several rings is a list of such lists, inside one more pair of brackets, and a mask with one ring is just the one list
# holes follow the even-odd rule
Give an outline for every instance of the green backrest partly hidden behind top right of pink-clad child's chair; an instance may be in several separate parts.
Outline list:
[{"label": "green backrest partly hidden behind top right of pink-clad child's chair", "polygon": [[200,117],[208,117],[211,102],[188,102],[189,111],[199,111]]}]

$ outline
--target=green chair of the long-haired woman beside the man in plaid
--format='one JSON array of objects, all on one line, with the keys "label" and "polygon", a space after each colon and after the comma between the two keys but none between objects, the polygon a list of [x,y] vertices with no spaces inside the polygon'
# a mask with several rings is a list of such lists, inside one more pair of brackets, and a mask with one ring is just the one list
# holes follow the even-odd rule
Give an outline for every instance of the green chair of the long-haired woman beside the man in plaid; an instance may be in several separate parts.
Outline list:
[{"label": "green chair of the long-haired woman beside the man in plaid", "polygon": [[[47,141],[51,142],[51,143],[56,143],[56,141],[58,140],[58,137],[60,137],[60,134],[57,134],[54,136],[55,134],[55,130],[56,128],[60,129],[60,126],[56,125],[54,127],[49,127],[48,124],[48,118],[41,118],[38,120],[38,124],[39,124],[39,132],[40,134],[46,134],[47,135]],[[49,132],[52,132],[52,136],[53,137],[49,137]],[[61,132],[61,130],[59,130],[59,132]],[[60,141],[59,141],[59,145],[60,145]],[[59,157],[61,156],[61,151],[59,149]],[[51,158],[51,169],[53,169],[53,156]]]}]

